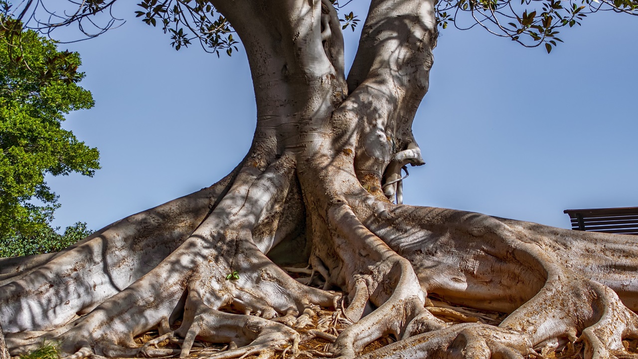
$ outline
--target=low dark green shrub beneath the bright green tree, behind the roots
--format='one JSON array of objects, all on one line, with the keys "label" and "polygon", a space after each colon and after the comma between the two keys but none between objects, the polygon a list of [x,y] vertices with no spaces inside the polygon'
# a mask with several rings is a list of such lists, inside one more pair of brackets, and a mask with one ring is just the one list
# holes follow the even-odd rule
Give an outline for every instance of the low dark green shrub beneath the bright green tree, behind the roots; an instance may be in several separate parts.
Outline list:
[{"label": "low dark green shrub beneath the bright green tree, behind the roots", "polygon": [[0,257],[31,256],[32,254],[59,252],[93,233],[82,222],[66,227],[64,234],[58,234],[57,230],[59,230],[59,227],[53,229],[47,226],[28,236],[17,234],[0,239]]}]

